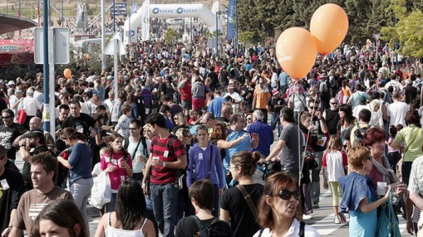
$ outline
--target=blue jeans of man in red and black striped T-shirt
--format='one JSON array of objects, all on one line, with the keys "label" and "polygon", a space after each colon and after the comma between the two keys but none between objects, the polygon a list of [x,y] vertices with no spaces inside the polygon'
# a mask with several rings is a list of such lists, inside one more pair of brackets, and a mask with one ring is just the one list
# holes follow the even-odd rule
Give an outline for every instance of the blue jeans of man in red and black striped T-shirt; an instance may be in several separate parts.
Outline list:
[{"label": "blue jeans of man in red and black striped T-shirt", "polygon": [[163,237],[174,236],[178,190],[177,183],[150,184],[154,216]]}]

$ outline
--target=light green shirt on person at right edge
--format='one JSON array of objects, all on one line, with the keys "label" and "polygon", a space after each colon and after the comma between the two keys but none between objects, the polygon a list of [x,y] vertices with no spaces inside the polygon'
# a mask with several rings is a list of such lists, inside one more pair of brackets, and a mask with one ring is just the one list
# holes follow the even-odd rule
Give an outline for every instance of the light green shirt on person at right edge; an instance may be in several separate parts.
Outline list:
[{"label": "light green shirt on person at right edge", "polygon": [[405,142],[404,162],[412,162],[417,157],[423,155],[423,152],[421,151],[421,145],[423,144],[423,129],[415,126],[414,124],[401,129],[401,131],[396,134],[392,144],[398,146],[401,141]]}]

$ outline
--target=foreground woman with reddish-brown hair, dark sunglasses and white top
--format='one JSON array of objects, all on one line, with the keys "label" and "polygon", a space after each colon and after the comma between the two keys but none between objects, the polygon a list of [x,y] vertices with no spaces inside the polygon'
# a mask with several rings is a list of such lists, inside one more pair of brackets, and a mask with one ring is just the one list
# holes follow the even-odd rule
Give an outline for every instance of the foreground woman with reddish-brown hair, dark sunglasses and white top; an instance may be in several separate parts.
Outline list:
[{"label": "foreground woman with reddish-brown hair, dark sunglasses and white top", "polygon": [[319,233],[302,220],[298,184],[289,175],[279,172],[267,178],[263,196],[258,204],[258,223],[265,229],[254,237],[303,236],[316,237]]}]

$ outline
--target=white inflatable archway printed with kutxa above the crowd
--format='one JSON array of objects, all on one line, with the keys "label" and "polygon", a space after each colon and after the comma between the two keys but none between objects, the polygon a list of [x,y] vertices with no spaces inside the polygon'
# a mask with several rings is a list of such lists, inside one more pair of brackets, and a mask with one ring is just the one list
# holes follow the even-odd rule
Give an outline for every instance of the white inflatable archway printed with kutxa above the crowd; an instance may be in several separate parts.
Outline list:
[{"label": "white inflatable archway printed with kutxa above the crowd", "polygon": [[[216,15],[212,13],[204,4],[150,4],[150,17],[157,18],[179,18],[179,17],[198,17],[208,27],[210,32],[216,29]],[[146,19],[147,20],[147,19]],[[124,24],[124,45],[135,42],[137,39],[136,29],[143,23],[142,7],[126,19]],[[217,19],[217,29],[222,31],[222,21]],[[131,36],[129,36],[131,33]]]}]

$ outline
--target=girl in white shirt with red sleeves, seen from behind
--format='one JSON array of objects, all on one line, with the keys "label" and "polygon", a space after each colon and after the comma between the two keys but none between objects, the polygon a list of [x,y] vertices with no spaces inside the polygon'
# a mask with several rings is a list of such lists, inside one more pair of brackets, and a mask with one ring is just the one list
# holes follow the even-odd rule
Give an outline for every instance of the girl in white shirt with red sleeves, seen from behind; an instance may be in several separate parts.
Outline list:
[{"label": "girl in white shirt with red sleeves, seen from behind", "polygon": [[338,210],[339,197],[342,196],[339,178],[345,176],[348,165],[347,154],[345,154],[343,148],[339,135],[332,135],[329,140],[328,152],[323,155],[323,160],[321,161],[323,166],[323,188],[328,189],[330,187],[331,189],[335,224],[346,222],[344,214]]}]

